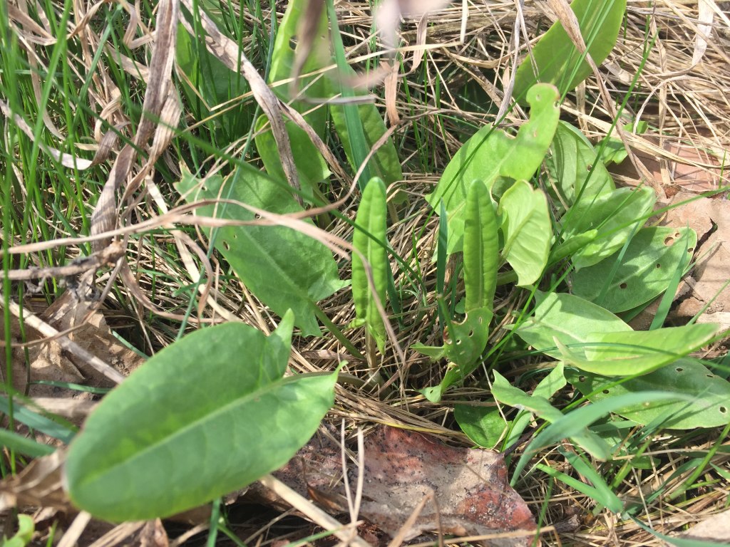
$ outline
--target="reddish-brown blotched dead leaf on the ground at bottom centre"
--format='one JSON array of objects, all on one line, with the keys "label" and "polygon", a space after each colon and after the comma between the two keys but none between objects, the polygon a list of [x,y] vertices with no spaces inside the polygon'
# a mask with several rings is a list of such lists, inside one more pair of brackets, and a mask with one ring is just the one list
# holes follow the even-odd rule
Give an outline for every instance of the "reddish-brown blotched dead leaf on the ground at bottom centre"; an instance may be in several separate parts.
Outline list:
[{"label": "reddish-brown blotched dead leaf on the ground at bottom centre", "polygon": [[[347,500],[340,461],[339,447],[320,434],[274,475],[328,511],[342,512]],[[534,538],[533,516],[510,486],[502,454],[454,448],[428,435],[378,427],[365,439],[364,461],[359,516],[391,536],[407,540],[440,530],[483,535],[491,546],[529,545]],[[358,470],[350,468],[348,476],[356,484]],[[418,518],[403,530],[426,498]]]}]

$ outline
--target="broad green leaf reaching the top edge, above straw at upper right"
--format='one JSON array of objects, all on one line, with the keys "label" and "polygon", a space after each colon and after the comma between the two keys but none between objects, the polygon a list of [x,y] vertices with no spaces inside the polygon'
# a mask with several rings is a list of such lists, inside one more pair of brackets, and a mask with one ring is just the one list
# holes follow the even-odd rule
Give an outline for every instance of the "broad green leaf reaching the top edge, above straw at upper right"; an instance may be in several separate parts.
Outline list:
[{"label": "broad green leaf reaching the top edge, above straw at upper right", "polygon": [[[626,0],[574,0],[570,8],[575,12],[588,53],[596,65],[601,64],[618,38]],[[537,75],[533,65],[537,66]],[[556,21],[534,44],[531,55],[520,63],[513,93],[521,100],[535,82],[548,82],[565,95],[588,74],[591,74],[591,67],[583,60],[562,23]]]}]

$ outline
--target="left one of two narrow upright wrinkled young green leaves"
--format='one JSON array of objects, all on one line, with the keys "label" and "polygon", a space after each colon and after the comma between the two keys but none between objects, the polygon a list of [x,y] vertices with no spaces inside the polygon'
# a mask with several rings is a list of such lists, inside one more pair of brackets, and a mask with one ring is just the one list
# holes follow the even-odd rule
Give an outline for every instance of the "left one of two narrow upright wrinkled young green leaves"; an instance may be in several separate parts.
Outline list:
[{"label": "left one of two narrow upright wrinkled young green leaves", "polygon": [[[385,238],[387,228],[385,215],[385,185],[377,178],[370,179],[363,191],[353,233],[353,247],[358,249],[370,265],[377,297],[385,306],[385,295],[388,290],[388,252]],[[385,324],[375,306],[375,299],[370,290],[365,265],[360,256],[353,252],[353,300],[358,319],[364,320],[368,332],[383,352],[385,348]]]}]

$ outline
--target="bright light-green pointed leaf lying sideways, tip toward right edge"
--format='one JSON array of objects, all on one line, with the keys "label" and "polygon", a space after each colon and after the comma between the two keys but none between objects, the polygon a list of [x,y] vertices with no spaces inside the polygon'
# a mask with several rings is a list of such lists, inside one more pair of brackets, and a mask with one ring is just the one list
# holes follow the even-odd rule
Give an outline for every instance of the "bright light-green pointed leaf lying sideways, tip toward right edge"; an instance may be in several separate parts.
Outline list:
[{"label": "bright light-green pointed leaf lying sideways, tip toward right edge", "polygon": [[604,376],[635,376],[656,371],[709,344],[719,325],[685,325],[648,331],[594,333],[585,355],[556,340],[565,362]]}]

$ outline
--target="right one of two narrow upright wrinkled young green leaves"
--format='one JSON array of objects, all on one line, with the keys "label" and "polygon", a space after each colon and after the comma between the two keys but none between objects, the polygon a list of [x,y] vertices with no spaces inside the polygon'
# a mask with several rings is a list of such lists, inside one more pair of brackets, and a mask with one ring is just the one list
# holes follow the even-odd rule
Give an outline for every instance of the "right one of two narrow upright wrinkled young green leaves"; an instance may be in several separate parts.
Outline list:
[{"label": "right one of two narrow upright wrinkled young green leaves", "polygon": [[464,287],[466,307],[492,309],[499,267],[499,235],[489,190],[475,181],[466,194],[464,223]]}]

